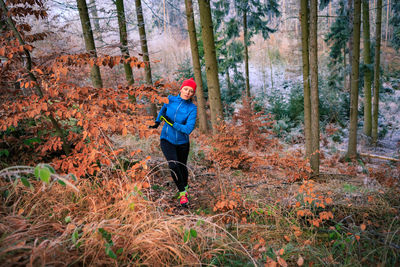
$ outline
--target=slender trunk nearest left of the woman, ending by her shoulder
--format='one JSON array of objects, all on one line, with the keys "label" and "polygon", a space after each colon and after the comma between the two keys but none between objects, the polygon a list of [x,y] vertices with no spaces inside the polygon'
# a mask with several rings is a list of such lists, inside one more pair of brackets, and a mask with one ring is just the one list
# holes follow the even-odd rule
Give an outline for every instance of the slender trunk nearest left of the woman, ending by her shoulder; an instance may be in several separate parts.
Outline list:
[{"label": "slender trunk nearest left of the woman, ending by her shoulder", "polygon": [[[143,62],[145,63],[144,67],[145,79],[148,85],[153,85],[153,79],[151,77],[149,49],[147,47],[146,29],[144,26],[142,1],[135,0],[135,5],[136,5],[136,17],[139,27],[140,44],[142,46]],[[150,104],[150,113],[154,118],[157,118],[157,107],[154,103]]]}]

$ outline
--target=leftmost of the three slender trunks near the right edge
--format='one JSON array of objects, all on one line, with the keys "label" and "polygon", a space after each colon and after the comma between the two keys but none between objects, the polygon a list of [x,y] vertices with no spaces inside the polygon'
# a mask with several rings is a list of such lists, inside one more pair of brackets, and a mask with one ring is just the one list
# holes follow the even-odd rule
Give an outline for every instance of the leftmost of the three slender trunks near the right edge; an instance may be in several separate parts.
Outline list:
[{"label": "leftmost of the three slender trunks near the right edge", "polygon": [[351,60],[350,127],[347,157],[357,156],[358,83],[360,67],[361,0],[354,1],[353,58]]}]

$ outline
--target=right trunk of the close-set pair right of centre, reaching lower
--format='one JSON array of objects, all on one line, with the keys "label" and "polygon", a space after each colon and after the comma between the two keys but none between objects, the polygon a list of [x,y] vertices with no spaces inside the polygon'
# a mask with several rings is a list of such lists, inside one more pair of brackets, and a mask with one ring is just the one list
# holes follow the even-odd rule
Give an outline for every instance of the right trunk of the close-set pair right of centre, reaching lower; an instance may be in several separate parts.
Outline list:
[{"label": "right trunk of the close-set pair right of centre, reaching lower", "polygon": [[318,0],[310,1],[311,169],[319,174]]}]

